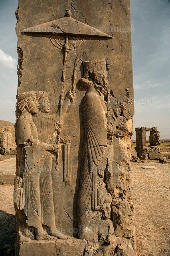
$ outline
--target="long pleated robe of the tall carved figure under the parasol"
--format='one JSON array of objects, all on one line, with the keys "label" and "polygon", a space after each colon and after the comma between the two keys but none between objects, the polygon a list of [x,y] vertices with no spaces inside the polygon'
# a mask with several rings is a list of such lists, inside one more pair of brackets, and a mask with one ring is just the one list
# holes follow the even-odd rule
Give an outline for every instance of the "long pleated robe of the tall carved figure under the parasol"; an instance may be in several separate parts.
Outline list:
[{"label": "long pleated robe of the tall carved figure under the parasol", "polygon": [[102,97],[95,91],[83,99],[83,123],[85,138],[78,196],[78,218],[81,229],[88,226],[87,212],[100,205],[98,173],[107,145],[107,108]]}]

